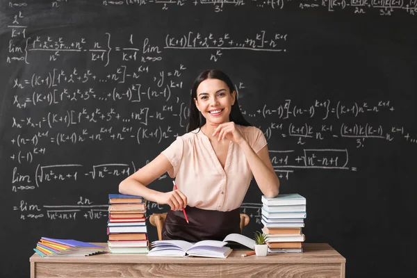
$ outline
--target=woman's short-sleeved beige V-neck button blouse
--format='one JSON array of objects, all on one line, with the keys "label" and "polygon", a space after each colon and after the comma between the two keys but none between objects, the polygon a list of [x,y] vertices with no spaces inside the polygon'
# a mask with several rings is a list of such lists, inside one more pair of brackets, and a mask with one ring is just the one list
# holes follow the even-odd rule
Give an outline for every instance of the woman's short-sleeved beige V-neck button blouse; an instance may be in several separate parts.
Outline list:
[{"label": "woman's short-sleeved beige V-neck button blouse", "polygon": [[[260,129],[236,126],[254,152],[267,144]],[[178,136],[162,154],[172,164],[168,174],[187,196],[188,206],[231,211],[242,204],[253,175],[239,145],[229,142],[224,170],[210,140],[199,129]]]}]

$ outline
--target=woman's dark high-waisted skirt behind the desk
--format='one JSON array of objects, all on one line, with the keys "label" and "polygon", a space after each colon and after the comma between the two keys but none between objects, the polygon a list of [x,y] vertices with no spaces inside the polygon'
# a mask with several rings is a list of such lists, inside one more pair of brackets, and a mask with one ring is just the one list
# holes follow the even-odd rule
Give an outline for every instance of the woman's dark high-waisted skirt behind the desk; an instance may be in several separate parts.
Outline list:
[{"label": "woman's dark high-waisted skirt behind the desk", "polygon": [[200,240],[223,240],[228,234],[240,234],[240,211],[207,211],[187,206],[183,211],[168,211],[163,224],[162,239],[179,239],[196,243]]}]

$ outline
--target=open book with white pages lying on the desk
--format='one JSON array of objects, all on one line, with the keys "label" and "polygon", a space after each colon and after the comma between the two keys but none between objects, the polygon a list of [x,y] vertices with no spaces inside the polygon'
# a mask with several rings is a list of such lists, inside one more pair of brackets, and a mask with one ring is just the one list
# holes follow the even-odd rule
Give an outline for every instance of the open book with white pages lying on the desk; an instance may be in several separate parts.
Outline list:
[{"label": "open book with white pages lying on the desk", "polygon": [[227,258],[232,249],[227,243],[240,243],[252,250],[255,240],[241,234],[229,234],[224,240],[201,240],[189,243],[185,240],[156,240],[147,256],[206,256],[210,258]]}]

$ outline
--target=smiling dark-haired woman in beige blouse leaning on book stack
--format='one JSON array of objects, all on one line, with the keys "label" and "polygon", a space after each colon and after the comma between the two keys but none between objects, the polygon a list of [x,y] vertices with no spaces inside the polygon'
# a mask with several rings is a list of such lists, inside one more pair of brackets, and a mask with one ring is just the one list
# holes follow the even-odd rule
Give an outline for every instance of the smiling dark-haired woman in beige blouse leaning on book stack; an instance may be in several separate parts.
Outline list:
[{"label": "smiling dark-haired woman in beige blouse leaning on book stack", "polygon": [[[279,193],[279,179],[265,136],[243,118],[234,85],[223,72],[206,70],[195,80],[187,132],[124,179],[120,193],[170,206],[163,239],[223,240],[240,233],[239,207],[252,174],[267,197]],[[175,178],[178,190],[161,193],[147,188],[165,172]]]}]

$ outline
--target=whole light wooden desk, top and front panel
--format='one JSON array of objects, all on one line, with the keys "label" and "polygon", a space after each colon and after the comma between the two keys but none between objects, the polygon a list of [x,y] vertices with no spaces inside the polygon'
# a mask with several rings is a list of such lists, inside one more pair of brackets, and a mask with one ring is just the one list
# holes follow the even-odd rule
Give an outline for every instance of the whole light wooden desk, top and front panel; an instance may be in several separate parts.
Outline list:
[{"label": "whole light wooden desk, top and front panel", "polygon": [[[106,243],[97,243],[106,245]],[[31,278],[40,277],[345,277],[346,260],[326,243],[304,243],[301,254],[247,256],[234,250],[227,259],[96,254],[44,257],[33,254]]]}]

